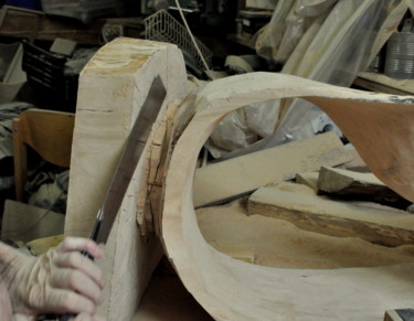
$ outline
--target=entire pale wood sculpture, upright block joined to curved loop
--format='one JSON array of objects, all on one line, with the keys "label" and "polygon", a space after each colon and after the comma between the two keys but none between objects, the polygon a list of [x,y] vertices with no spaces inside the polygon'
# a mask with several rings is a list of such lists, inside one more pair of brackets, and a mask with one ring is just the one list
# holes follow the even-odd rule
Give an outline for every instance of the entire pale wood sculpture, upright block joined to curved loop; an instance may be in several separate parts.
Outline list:
[{"label": "entire pale wood sculpture, upright block joined to curved loop", "polygon": [[[200,149],[226,114],[253,103],[301,97],[328,113],[385,184],[414,201],[414,97],[252,73],[210,82],[180,101],[187,94],[185,71],[181,53],[169,44],[117,39],[83,71],[65,234],[88,236],[132,119],[158,74],[168,98],[148,142],[148,160],[138,164],[106,245],[104,317],[131,320],[161,244],[187,289],[216,320],[380,320],[385,310],[412,304],[414,264],[287,269],[219,253],[200,233],[193,179]],[[148,213],[152,205],[158,211]],[[140,224],[152,220],[161,242],[139,231],[137,212]]]}]

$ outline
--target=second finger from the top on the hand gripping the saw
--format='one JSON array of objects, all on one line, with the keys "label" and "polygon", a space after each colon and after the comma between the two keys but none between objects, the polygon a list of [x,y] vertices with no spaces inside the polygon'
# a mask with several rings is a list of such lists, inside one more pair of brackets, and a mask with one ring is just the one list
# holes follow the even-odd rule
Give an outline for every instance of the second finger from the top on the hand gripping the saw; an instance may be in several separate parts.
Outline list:
[{"label": "second finger from the top on the hand gripping the saw", "polygon": [[94,261],[82,256],[77,252],[65,253],[55,256],[54,264],[60,268],[71,268],[79,270],[88,278],[94,280],[100,289],[104,288],[105,282],[102,270],[96,266]]}]

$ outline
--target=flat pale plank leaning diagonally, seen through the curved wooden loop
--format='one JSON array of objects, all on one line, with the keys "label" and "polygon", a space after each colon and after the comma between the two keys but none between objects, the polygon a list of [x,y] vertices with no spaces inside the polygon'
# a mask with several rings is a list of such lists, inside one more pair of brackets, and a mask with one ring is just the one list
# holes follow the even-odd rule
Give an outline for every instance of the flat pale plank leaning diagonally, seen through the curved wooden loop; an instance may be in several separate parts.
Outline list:
[{"label": "flat pale plank leaning diagonally, seen through the curved wooden loop", "polygon": [[297,172],[350,160],[337,135],[327,132],[214,163],[195,171],[194,206],[223,203],[265,184],[294,179]]}]

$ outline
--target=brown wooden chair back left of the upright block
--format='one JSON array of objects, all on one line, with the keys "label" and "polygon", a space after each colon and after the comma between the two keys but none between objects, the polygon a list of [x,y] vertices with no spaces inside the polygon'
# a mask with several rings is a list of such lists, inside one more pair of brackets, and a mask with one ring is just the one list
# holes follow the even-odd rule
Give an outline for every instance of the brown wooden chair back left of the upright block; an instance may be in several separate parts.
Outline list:
[{"label": "brown wooden chair back left of the upright block", "polygon": [[26,183],[26,146],[30,146],[45,161],[62,168],[70,168],[74,121],[74,114],[45,109],[28,109],[13,119],[17,201],[23,201]]}]

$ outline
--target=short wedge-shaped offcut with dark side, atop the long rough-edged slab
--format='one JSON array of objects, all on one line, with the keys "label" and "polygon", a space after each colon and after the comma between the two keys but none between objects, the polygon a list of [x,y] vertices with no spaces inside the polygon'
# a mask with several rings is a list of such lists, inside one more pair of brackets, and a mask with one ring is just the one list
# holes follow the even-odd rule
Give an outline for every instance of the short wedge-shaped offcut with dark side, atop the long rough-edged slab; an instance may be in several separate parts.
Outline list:
[{"label": "short wedge-shaped offcut with dark side, atop the long rough-edged slab", "polygon": [[321,167],[318,189],[325,193],[349,199],[381,204],[400,204],[401,208],[406,208],[411,204],[381,182],[373,173]]}]

